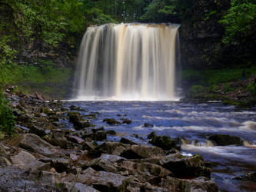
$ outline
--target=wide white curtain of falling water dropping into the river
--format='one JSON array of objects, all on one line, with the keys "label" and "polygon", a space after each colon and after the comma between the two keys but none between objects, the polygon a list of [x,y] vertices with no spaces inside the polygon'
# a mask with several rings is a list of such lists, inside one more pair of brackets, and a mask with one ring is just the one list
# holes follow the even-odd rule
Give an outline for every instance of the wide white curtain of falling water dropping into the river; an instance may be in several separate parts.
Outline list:
[{"label": "wide white curtain of falling water dropping into the river", "polygon": [[89,27],[75,74],[78,100],[175,100],[179,25]]}]

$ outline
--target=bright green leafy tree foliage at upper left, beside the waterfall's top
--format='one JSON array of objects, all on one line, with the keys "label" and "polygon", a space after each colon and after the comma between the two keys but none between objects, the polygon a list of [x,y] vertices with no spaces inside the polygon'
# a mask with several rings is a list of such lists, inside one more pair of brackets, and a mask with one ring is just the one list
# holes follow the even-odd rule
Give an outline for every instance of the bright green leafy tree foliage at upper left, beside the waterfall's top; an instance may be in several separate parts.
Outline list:
[{"label": "bright green leafy tree foliage at upper left, beside the waterfall's top", "polygon": [[63,38],[83,30],[82,3],[78,0],[11,0],[15,25],[25,43],[42,39],[45,47],[55,48]]}]

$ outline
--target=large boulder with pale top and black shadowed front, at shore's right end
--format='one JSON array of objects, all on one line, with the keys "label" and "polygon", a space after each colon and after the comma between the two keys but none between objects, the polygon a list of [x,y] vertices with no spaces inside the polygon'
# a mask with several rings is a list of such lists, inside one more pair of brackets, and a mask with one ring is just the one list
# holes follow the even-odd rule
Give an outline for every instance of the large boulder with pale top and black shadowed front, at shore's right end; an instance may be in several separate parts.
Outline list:
[{"label": "large boulder with pale top and black shadowed front, at shore's right end", "polygon": [[159,164],[175,174],[175,177],[211,176],[211,169],[204,167],[201,154],[195,154],[192,157],[184,157],[179,153],[169,154],[161,158]]}]

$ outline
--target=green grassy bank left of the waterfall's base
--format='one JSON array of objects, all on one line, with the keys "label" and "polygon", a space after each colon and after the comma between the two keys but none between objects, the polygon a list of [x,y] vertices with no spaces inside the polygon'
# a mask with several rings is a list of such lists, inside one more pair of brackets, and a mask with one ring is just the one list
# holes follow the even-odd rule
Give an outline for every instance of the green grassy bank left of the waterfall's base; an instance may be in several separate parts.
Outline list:
[{"label": "green grassy bank left of the waterfall's base", "polygon": [[71,69],[51,65],[0,64],[0,84],[18,85],[25,93],[38,91],[48,98],[63,98],[71,88]]}]

